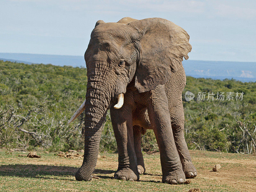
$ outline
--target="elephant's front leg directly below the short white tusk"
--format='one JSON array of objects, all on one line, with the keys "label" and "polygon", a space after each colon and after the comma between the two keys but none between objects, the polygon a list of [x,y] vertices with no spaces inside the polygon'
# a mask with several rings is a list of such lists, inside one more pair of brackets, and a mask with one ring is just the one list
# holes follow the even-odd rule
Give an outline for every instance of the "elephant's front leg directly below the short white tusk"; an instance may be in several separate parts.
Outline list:
[{"label": "elephant's front leg directly below the short white tusk", "polygon": [[120,109],[110,108],[111,122],[118,149],[118,169],[115,179],[139,180],[137,158],[133,143],[132,109],[123,105]]}]

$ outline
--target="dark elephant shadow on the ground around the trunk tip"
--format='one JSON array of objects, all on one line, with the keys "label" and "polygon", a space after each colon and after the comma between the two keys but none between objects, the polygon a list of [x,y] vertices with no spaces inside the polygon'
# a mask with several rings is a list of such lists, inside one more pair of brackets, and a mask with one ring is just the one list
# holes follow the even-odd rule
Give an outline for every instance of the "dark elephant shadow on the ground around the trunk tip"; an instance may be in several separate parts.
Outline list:
[{"label": "dark elephant shadow on the ground around the trunk tip", "polygon": [[[0,176],[32,177],[53,180],[75,180],[73,176],[78,167],[36,164],[9,164],[0,165]],[[111,174],[113,170],[95,169],[94,174]],[[54,176],[59,176],[54,177]],[[101,179],[113,179],[110,176],[97,175]]]}]

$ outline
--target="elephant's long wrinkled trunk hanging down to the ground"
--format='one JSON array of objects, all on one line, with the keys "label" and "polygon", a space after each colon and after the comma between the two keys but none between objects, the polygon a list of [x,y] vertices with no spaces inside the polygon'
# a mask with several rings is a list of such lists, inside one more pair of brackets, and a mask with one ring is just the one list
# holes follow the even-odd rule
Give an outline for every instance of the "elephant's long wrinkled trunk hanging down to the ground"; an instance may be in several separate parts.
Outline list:
[{"label": "elephant's long wrinkled trunk hanging down to the ground", "polygon": [[[93,86],[91,86],[93,85]],[[84,131],[84,161],[76,172],[76,180],[91,180],[92,172],[97,163],[102,124],[105,121],[110,99],[103,91],[106,86],[100,83],[87,84]],[[105,89],[106,90],[106,89]],[[104,92],[104,94],[102,94]]]}]

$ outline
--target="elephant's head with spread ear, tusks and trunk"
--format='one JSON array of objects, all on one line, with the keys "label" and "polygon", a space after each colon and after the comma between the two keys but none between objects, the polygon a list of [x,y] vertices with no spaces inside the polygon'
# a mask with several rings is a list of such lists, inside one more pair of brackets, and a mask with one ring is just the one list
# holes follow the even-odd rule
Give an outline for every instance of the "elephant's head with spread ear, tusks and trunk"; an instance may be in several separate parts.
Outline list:
[{"label": "elephant's head with spread ear, tusks and trunk", "polygon": [[187,32],[161,18],[117,23],[97,21],[84,54],[87,68],[86,99],[69,123],[85,110],[84,161],[76,180],[91,180],[96,166],[102,124],[110,105],[121,108],[128,84],[147,92],[165,84],[191,45]]}]

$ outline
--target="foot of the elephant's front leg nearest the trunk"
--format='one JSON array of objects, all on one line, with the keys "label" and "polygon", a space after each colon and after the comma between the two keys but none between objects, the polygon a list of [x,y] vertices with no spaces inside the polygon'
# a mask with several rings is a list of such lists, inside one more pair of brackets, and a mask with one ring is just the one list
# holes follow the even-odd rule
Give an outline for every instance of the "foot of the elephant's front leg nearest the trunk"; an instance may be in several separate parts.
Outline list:
[{"label": "foot of the elephant's front leg nearest the trunk", "polygon": [[130,168],[124,168],[116,171],[114,179],[136,181],[140,179],[140,175],[138,171],[135,173]]}]

